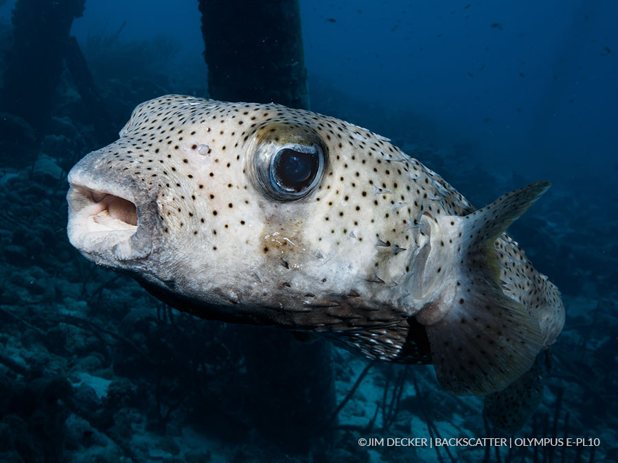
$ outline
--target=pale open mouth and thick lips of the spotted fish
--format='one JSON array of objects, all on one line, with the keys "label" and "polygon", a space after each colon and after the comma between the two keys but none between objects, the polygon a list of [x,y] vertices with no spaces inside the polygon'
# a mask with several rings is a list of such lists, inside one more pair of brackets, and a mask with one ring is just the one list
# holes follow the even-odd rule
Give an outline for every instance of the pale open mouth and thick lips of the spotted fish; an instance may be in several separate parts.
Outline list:
[{"label": "pale open mouth and thick lips of the spotted fish", "polygon": [[156,201],[133,182],[84,175],[77,167],[68,176],[69,241],[95,263],[130,270],[152,253]]}]

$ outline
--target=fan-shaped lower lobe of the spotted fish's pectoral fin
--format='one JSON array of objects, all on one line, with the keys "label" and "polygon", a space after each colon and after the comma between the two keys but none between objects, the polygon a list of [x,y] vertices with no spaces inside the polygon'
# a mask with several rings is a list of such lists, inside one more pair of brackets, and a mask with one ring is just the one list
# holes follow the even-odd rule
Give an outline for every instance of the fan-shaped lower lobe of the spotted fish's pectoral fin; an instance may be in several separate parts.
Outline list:
[{"label": "fan-shaped lower lobe of the spotted fish's pectoral fin", "polygon": [[457,304],[425,327],[435,373],[445,390],[489,394],[529,370],[542,336],[523,305],[497,287],[485,289],[485,296],[470,293]]}]

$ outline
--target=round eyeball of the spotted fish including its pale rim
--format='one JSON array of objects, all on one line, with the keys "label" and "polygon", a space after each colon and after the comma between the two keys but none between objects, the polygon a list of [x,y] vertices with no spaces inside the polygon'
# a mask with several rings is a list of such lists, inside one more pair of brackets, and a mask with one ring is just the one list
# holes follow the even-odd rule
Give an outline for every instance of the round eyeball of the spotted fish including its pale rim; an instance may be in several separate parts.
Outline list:
[{"label": "round eyeball of the spotted fish including its pale rim", "polygon": [[322,167],[323,154],[317,145],[288,144],[271,158],[271,185],[284,195],[304,196]]}]

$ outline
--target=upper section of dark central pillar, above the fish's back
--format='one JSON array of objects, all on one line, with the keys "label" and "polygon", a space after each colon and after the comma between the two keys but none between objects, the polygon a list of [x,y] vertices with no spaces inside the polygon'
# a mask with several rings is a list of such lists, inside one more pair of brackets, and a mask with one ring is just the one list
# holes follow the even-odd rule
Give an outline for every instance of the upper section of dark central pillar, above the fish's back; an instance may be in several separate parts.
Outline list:
[{"label": "upper section of dark central pillar, above the fish's back", "polygon": [[212,97],[308,108],[297,0],[199,0]]}]

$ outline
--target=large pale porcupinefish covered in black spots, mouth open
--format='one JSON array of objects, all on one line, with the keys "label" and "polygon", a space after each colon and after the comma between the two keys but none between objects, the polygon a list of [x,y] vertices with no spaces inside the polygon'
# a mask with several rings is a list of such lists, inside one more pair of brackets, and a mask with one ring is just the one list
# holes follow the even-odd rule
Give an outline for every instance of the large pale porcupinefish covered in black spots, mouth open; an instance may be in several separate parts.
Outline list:
[{"label": "large pale porcupinefish covered in black spots, mouth open", "polygon": [[564,324],[558,289],[504,233],[549,182],[477,210],[333,117],[159,97],[68,180],[71,244],[173,307],[433,363],[455,394],[510,385]]}]

